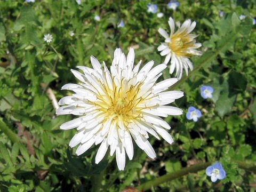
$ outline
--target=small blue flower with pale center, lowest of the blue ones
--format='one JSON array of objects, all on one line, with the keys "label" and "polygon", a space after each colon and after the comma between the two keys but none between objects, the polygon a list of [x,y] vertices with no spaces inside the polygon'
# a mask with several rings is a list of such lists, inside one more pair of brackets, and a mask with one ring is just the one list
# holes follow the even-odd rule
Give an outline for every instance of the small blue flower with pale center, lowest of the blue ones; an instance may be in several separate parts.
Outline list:
[{"label": "small blue flower with pale center, lowest of the blue ones", "polygon": [[207,167],[206,174],[211,177],[212,182],[217,181],[217,179],[226,178],[226,171],[224,170],[222,164],[219,162]]}]

